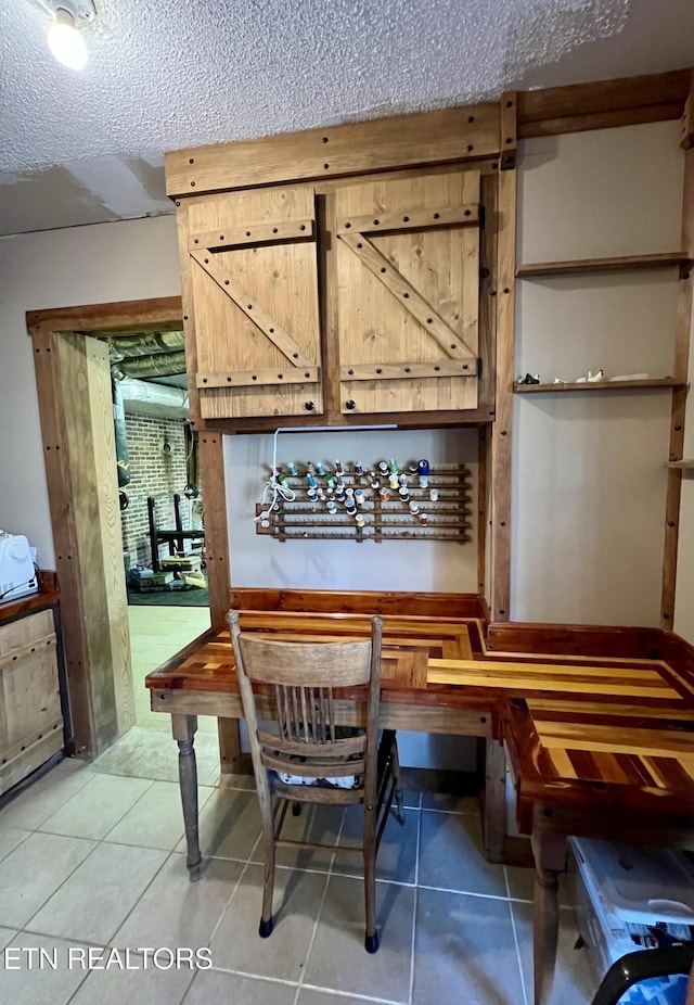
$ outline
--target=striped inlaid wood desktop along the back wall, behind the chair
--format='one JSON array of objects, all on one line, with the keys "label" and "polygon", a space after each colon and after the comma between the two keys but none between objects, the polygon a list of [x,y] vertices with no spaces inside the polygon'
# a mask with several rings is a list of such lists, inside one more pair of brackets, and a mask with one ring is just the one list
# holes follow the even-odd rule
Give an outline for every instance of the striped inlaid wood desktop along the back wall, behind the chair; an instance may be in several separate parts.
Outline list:
[{"label": "striped inlaid wood desktop along the back wall, behind the chair", "polygon": [[[503,704],[527,698],[547,715],[595,709],[615,717],[677,716],[694,723],[694,675],[664,660],[500,654],[485,645],[479,619],[384,615],[384,703],[486,709],[500,723]],[[243,611],[244,632],[274,638],[347,639],[370,632],[368,614]],[[236,694],[229,632],[209,631],[145,680],[157,690]],[[501,730],[494,728],[494,734]]]}]

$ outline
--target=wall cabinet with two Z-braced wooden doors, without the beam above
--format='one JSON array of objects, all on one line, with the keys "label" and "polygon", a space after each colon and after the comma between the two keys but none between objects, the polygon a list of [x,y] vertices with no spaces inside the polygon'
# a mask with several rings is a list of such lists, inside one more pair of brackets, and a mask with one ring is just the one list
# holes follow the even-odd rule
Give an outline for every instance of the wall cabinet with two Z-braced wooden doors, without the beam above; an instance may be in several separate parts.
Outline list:
[{"label": "wall cabinet with two Z-braced wooden doors, without the beam above", "polygon": [[479,420],[496,174],[460,161],[179,202],[193,421]]}]

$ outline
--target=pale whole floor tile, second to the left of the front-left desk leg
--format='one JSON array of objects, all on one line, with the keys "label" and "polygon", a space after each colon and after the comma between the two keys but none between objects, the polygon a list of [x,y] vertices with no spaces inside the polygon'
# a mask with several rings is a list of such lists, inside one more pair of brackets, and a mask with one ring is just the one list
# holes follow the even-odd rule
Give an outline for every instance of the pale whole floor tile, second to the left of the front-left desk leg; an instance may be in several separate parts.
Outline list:
[{"label": "pale whole floor tile, second to the left of the front-left desk leg", "polygon": [[76,838],[104,838],[152,783],[92,774],[87,785],[43,820],[40,830]]}]

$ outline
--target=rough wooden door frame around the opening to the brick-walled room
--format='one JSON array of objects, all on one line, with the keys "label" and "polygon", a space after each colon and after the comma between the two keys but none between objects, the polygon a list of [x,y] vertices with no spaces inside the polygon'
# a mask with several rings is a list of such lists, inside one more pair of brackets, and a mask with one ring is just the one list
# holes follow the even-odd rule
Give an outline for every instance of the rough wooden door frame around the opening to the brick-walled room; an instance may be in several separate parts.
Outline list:
[{"label": "rough wooden door frame around the opening to the brick-walled room", "polygon": [[[108,682],[97,665],[108,665],[108,660],[113,661],[114,657],[110,619],[104,616],[105,571],[99,562],[87,560],[85,542],[93,535],[93,524],[89,522],[85,508],[78,505],[80,498],[85,499],[85,496],[79,495],[85,482],[77,476],[78,461],[83,459],[83,450],[91,449],[94,442],[103,436],[89,418],[89,408],[79,407],[78,389],[75,389],[74,396],[63,393],[63,336],[73,334],[87,339],[101,332],[171,331],[182,329],[182,317],[179,296],[29,310],[26,314],[34,348],[61,594],[73,742],[75,753],[88,760],[98,756],[119,735],[113,679]],[[104,429],[111,428],[111,423],[105,423]],[[83,434],[83,440],[74,435],[76,429]],[[81,444],[79,450],[78,442]],[[200,468],[203,498],[207,504],[205,550],[210,618],[214,625],[221,625],[229,606],[229,547],[221,433],[201,431]],[[94,502],[91,495],[89,501]],[[93,505],[91,509],[93,512]]]}]

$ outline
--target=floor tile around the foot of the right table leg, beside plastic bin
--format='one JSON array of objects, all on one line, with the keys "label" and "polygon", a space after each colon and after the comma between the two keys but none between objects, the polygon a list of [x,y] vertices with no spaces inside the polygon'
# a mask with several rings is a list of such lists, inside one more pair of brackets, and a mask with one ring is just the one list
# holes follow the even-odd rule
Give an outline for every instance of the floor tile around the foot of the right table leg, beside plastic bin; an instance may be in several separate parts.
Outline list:
[{"label": "floor tile around the foot of the right table leg, beside plastic bin", "polygon": [[[532,1001],[532,905],[512,904],[528,1001]],[[560,911],[560,939],[552,994],[547,1005],[586,1005],[600,981],[592,972],[588,950],[576,949],[578,928],[574,912]]]}]

